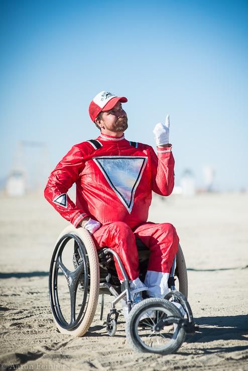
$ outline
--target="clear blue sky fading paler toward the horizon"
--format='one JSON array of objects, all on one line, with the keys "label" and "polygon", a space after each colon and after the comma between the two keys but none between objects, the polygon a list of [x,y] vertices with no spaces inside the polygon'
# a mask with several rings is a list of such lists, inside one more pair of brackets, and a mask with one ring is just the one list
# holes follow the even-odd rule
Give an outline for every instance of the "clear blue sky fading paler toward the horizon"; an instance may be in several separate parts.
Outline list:
[{"label": "clear blue sky fading paler toward the horizon", "polygon": [[208,165],[216,189],[247,189],[247,25],[239,0],[0,0],[1,177],[20,140],[45,142],[51,170],[96,137],[88,104],[108,90],[129,99],[127,139],[155,147],[170,114],[177,184]]}]

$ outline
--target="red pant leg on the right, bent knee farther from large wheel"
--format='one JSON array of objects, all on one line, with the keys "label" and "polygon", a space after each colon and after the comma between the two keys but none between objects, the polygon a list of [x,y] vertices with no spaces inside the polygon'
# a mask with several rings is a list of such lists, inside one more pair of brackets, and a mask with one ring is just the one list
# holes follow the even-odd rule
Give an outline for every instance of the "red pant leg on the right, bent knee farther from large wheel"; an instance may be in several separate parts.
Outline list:
[{"label": "red pant leg on the right, bent knee farther from large wheel", "polygon": [[136,228],[134,234],[151,250],[148,270],[169,273],[179,243],[173,225],[146,223]]}]

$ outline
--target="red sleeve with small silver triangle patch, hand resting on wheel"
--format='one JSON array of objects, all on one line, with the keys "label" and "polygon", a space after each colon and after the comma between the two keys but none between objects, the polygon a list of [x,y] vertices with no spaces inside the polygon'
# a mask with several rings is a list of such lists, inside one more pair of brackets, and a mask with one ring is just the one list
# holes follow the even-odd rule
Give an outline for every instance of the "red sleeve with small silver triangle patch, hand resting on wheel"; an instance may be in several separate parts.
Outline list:
[{"label": "red sleeve with small silver triangle patch, hand resting on wheel", "polygon": [[76,207],[67,192],[78,179],[83,168],[83,153],[80,148],[73,146],[51,172],[44,191],[47,201],[75,227],[87,217],[87,214]]}]

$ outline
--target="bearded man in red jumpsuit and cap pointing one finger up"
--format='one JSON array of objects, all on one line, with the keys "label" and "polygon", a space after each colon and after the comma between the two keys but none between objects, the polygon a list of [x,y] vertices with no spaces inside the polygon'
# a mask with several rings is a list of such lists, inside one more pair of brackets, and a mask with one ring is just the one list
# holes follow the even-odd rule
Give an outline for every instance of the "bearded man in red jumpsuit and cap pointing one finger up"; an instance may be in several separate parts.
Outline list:
[{"label": "bearded man in red jumpsuit and cap pointing one finger up", "polygon": [[[169,116],[155,126],[158,155],[147,144],[124,136],[128,118],[121,103],[127,98],[102,91],[89,105],[100,135],[74,145],[49,176],[45,197],[75,227],[87,229],[97,249],[110,247],[121,258],[131,290],[144,288],[139,279],[136,237],[151,255],[145,286],[149,296],[164,297],[178,249],[169,223],[147,222],[152,191],[169,196],[174,187],[174,158],[169,144]],[[67,195],[76,183],[76,203]],[[123,280],[116,266],[118,277]],[[136,290],[137,291],[137,290]]]}]

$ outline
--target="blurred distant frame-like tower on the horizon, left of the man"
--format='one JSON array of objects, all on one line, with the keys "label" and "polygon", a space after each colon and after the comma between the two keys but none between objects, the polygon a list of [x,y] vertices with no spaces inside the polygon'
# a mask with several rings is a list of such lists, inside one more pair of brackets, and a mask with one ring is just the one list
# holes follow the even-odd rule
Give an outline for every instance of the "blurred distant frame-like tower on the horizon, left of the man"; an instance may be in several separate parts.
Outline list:
[{"label": "blurred distant frame-like tower on the horizon, left of the man", "polygon": [[20,141],[6,182],[7,195],[18,197],[29,191],[40,191],[44,186],[48,167],[49,158],[45,143]]}]

